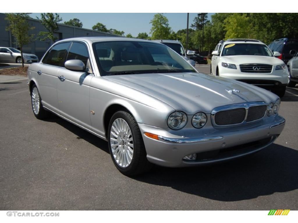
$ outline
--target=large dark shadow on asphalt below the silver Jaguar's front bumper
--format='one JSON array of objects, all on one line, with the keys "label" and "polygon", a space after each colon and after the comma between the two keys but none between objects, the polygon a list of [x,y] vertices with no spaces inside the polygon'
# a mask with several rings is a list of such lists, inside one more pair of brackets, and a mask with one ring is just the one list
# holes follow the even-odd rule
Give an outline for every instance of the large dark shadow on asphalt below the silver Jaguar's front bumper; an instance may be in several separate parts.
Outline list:
[{"label": "large dark shadow on asphalt below the silver Jaguar's front bumper", "polygon": [[165,168],[133,179],[218,201],[298,189],[298,151],[273,144],[259,153],[204,167]]}]

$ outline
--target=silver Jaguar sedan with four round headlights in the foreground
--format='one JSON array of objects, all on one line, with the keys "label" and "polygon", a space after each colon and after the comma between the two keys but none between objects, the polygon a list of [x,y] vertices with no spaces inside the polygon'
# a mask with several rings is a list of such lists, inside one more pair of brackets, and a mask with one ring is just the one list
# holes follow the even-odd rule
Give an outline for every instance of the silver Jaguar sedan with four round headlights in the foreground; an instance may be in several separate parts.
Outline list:
[{"label": "silver Jaguar sedan with four round headlights in the foreground", "polygon": [[35,117],[52,112],[108,141],[125,175],[245,156],[271,145],[285,123],[277,95],[198,73],[153,41],[61,40],[28,77]]}]

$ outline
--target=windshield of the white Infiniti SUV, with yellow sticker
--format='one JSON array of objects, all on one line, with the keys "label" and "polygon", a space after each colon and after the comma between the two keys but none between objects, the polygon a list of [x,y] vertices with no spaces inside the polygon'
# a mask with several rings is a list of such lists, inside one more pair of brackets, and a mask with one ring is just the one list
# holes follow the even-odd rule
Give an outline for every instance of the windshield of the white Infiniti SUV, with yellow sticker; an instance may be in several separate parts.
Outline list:
[{"label": "windshield of the white Infiniti SUV, with yellow sticker", "polygon": [[232,43],[224,45],[221,56],[233,55],[273,56],[264,44]]}]

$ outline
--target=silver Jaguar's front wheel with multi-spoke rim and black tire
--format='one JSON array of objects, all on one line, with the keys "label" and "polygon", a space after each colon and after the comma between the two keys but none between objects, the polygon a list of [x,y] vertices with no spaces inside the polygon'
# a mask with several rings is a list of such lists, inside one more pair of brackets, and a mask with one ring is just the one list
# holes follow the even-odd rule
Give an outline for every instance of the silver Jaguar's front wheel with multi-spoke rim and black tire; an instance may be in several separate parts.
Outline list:
[{"label": "silver Jaguar's front wheel with multi-spoke rim and black tire", "polygon": [[130,113],[118,111],[111,117],[108,146],[114,165],[122,174],[132,176],[150,169],[142,134]]}]

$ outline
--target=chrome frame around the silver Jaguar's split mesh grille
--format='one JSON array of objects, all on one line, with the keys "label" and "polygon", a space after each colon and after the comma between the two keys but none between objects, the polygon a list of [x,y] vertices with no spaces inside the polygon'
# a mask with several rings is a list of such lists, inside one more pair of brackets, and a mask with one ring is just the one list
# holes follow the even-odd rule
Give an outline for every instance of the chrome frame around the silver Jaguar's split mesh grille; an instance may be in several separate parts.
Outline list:
[{"label": "chrome frame around the silver Jaguar's split mesh grille", "polygon": [[[266,105],[268,107],[268,104],[262,101],[262,102],[247,102],[247,103],[232,104],[232,105],[226,105],[226,106],[221,106],[221,107],[214,108],[211,112],[211,123],[216,128],[224,128],[224,127],[227,127],[227,126],[234,126],[234,125],[244,125],[244,124],[247,123],[246,118],[247,118],[247,115],[248,115],[249,107],[262,106],[262,105]],[[244,120],[243,120],[242,123],[237,123],[237,124],[232,124],[232,125],[216,125],[214,119],[215,119],[215,114],[217,112],[225,111],[225,110],[231,110],[231,109],[238,109],[238,108],[245,108],[245,117],[244,117]],[[265,115],[266,115],[266,111],[264,112],[264,116]],[[264,118],[264,116],[260,119],[253,120],[253,121],[250,121],[248,123],[253,123],[255,121],[261,120],[261,119]]]}]

